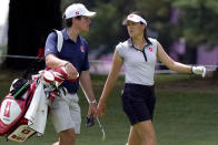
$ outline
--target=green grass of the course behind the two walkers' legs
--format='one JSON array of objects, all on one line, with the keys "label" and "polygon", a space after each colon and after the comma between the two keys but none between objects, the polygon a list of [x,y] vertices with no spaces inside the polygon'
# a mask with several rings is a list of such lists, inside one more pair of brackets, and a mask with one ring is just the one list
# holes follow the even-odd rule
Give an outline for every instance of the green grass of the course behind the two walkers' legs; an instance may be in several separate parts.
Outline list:
[{"label": "green grass of the course behind the two walkers' legs", "polygon": [[[2,77],[4,75],[4,77]],[[0,97],[2,99],[17,76],[14,73],[0,73]],[[106,76],[92,75],[93,90],[100,97]],[[156,76],[157,105],[153,124],[158,145],[218,145],[218,91],[217,82],[201,81],[192,75]],[[129,122],[121,111],[120,76],[107,102],[106,115],[100,118],[106,131],[101,142],[101,131],[96,122],[93,127],[85,126],[88,103],[79,91],[82,112],[81,134],[77,145],[125,145],[129,133]],[[50,120],[42,137],[32,137],[24,145],[51,145],[58,138]],[[0,137],[0,145],[17,145]]]}]

